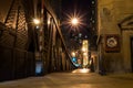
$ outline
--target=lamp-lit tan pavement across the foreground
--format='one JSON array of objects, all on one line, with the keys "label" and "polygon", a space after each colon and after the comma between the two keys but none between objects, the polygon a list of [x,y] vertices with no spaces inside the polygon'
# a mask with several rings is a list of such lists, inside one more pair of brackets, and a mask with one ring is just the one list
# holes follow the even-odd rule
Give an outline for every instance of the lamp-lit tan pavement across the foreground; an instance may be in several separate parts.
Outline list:
[{"label": "lamp-lit tan pavement across the foreground", "polygon": [[[129,77],[131,77],[130,75]],[[0,88],[133,88],[126,75],[101,76],[95,73],[52,73],[42,77],[0,82]]]}]

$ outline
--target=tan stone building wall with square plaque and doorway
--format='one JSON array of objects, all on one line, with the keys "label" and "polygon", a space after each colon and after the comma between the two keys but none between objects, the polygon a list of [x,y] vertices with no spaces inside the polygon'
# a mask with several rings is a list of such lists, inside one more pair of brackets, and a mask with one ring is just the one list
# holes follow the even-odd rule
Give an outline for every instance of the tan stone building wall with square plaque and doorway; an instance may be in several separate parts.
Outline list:
[{"label": "tan stone building wall with square plaque and doorway", "polygon": [[98,72],[133,72],[133,0],[98,0]]}]

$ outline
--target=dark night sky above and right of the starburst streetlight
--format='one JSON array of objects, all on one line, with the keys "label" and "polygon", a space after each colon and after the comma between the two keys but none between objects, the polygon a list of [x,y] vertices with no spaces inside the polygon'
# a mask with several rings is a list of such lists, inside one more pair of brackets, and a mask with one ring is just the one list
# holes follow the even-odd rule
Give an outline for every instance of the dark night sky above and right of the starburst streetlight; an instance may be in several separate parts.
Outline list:
[{"label": "dark night sky above and right of the starburst streetlight", "polygon": [[[92,0],[62,0],[62,14],[63,14],[63,21],[66,21],[66,14],[76,13],[79,15],[82,15],[82,23],[79,32],[88,33],[88,24],[89,24],[89,18],[90,18],[90,4]],[[70,29],[70,28],[66,28]]]}]

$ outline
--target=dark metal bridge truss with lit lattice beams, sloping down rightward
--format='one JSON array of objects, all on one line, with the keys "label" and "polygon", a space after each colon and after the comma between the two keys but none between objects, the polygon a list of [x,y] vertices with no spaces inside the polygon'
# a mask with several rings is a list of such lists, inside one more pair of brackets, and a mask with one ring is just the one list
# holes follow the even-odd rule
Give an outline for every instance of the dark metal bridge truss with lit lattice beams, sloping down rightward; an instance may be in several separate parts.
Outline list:
[{"label": "dark metal bridge truss with lit lattice beams, sloping down rightward", "polygon": [[[33,0],[12,0],[4,23],[0,23],[0,81],[74,68],[54,12],[44,6],[41,16],[40,9],[43,23],[37,29]],[[35,73],[39,62],[42,69]]]}]

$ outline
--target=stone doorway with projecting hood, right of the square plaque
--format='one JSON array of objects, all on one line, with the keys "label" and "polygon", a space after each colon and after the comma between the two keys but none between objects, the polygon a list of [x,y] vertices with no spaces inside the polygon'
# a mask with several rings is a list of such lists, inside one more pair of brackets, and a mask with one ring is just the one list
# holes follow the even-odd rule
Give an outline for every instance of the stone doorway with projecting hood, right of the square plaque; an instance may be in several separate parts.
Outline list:
[{"label": "stone doorway with projecting hood, right of the square plaque", "polygon": [[[119,28],[121,29],[121,33],[123,36],[122,41],[123,43],[126,43],[126,44],[123,44],[123,48],[127,47],[126,50],[123,50],[123,53],[125,53],[125,51],[130,53],[130,54],[126,53],[124,56],[124,63],[129,62],[129,63],[125,63],[124,67],[125,67],[125,70],[133,73],[133,14],[123,19],[119,23]],[[124,36],[126,36],[126,38]],[[130,57],[130,58],[126,58],[126,57]],[[129,67],[126,67],[126,65],[129,65]]]}]

